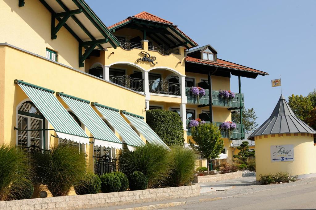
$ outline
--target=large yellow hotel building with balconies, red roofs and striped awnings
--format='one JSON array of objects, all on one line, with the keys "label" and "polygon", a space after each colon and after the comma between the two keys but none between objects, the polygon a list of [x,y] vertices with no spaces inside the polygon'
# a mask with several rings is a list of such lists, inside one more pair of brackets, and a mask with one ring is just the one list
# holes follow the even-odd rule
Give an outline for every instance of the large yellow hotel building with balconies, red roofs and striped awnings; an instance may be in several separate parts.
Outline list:
[{"label": "large yellow hotel building with balconies, red roofs and striped awnings", "polygon": [[[232,110],[242,113],[241,89],[233,99],[219,92],[230,90],[230,75],[267,75],[218,59],[210,45],[196,48],[147,12],[106,27],[83,0],[0,0],[0,9],[0,143],[69,144],[87,153],[91,170],[94,157],[114,158],[116,149],[166,146],[145,123],[146,110],[179,113],[188,143],[190,120],[220,127]],[[205,95],[198,100],[192,86]],[[231,140],[243,138],[237,124]]]}]

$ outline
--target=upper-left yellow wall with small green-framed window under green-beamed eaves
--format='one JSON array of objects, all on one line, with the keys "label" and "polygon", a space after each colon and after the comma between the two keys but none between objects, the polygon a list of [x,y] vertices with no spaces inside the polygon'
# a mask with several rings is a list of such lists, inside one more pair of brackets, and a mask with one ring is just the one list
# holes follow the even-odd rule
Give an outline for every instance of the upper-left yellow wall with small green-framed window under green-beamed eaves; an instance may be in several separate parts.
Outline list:
[{"label": "upper-left yellow wall with small green-framed window under green-beamed eaves", "polygon": [[28,0],[24,7],[19,7],[17,1],[3,0],[0,11],[0,43],[6,42],[44,57],[49,48],[57,51],[58,62],[79,69],[78,41],[64,27],[57,33],[57,39],[51,39],[52,15],[40,1]]}]

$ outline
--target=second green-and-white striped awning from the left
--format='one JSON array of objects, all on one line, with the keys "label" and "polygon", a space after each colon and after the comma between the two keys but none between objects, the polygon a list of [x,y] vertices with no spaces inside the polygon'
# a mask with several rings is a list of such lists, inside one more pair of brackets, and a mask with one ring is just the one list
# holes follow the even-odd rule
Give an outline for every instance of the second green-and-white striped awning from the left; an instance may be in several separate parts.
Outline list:
[{"label": "second green-and-white striped awning from the left", "polygon": [[94,137],[94,145],[122,149],[122,142],[115,136],[100,116],[90,106],[90,102],[81,98],[57,92],[71,111],[85,125]]}]

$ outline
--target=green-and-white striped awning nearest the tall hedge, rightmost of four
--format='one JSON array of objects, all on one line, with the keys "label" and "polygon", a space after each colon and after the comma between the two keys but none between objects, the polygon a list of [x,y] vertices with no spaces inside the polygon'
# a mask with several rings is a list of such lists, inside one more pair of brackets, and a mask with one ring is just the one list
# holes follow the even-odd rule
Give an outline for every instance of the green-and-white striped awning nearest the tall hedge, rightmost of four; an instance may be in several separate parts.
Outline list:
[{"label": "green-and-white striped awning nearest the tall hedge, rightmost of four", "polygon": [[155,131],[153,131],[153,129],[151,129],[151,127],[149,127],[149,125],[144,121],[144,117],[125,112],[123,110],[121,110],[121,112],[149,143],[159,144],[169,149],[169,147],[161,140],[161,138],[155,133]]}]

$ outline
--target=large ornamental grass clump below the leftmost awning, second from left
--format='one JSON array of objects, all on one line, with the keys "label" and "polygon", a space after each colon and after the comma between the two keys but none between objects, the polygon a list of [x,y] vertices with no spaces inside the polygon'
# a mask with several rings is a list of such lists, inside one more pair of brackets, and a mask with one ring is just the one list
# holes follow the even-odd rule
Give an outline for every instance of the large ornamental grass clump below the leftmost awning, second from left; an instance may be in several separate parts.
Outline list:
[{"label": "large ornamental grass clump below the leftmost awning, second from left", "polygon": [[72,186],[86,178],[84,153],[77,148],[59,144],[52,150],[33,154],[33,179],[46,185],[53,196],[68,195]]}]

